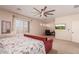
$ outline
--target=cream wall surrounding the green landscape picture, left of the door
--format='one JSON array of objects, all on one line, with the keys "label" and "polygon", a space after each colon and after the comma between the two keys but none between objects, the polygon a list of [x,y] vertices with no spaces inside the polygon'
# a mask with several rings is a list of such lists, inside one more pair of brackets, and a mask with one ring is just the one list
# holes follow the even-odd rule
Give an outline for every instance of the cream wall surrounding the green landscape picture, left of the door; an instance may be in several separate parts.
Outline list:
[{"label": "cream wall surrounding the green landscape picture, left of the door", "polygon": [[79,14],[56,18],[55,24],[62,24],[62,23],[66,24],[65,30],[56,30],[56,38],[71,41],[72,40],[72,22],[76,20],[79,22]]}]

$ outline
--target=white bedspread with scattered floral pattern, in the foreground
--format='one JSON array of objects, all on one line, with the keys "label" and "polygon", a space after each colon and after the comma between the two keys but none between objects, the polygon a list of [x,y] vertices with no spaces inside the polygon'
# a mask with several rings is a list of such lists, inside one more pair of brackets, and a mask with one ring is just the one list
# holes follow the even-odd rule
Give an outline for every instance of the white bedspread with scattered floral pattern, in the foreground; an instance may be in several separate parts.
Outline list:
[{"label": "white bedspread with scattered floral pattern, in the foreground", "polygon": [[45,54],[42,41],[24,36],[0,39],[1,54]]}]

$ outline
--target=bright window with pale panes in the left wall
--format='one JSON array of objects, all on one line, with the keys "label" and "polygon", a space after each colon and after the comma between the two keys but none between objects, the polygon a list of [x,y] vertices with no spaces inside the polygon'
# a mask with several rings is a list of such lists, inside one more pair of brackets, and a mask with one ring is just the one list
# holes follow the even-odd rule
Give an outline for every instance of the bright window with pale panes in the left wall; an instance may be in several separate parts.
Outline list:
[{"label": "bright window with pale panes in the left wall", "polygon": [[16,20],[16,33],[29,32],[29,22],[24,20]]}]

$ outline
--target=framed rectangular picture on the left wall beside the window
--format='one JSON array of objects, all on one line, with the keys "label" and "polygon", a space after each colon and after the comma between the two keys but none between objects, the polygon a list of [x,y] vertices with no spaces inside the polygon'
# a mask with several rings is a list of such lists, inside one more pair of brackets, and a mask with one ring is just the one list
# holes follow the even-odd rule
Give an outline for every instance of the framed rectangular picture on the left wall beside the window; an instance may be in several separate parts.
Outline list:
[{"label": "framed rectangular picture on the left wall beside the window", "polygon": [[10,21],[1,21],[1,33],[8,34],[11,32],[11,22]]}]

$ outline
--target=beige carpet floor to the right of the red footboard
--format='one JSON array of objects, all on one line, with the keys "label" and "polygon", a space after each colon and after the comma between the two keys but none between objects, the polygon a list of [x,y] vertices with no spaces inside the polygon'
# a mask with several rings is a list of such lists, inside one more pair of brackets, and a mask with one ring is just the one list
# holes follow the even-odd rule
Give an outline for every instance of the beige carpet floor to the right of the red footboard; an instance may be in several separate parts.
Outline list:
[{"label": "beige carpet floor to the right of the red footboard", "polygon": [[79,54],[79,43],[54,39],[53,48],[49,54]]}]

